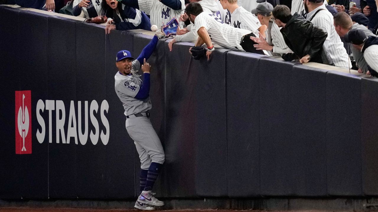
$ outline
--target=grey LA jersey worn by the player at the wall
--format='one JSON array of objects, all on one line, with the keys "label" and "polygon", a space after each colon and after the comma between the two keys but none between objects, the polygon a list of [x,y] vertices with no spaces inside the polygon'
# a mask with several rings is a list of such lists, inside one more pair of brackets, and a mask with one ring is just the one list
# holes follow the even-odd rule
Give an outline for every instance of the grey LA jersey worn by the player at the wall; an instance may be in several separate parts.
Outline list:
[{"label": "grey LA jersey worn by the player at the wall", "polygon": [[[140,68],[141,66],[139,61],[134,60],[132,64],[132,70],[139,71]],[[124,76],[121,73],[117,72],[114,76],[114,80],[114,87],[119,100],[122,101],[123,108],[125,109],[125,115],[146,112],[152,108],[150,97],[144,100],[134,98],[136,94],[138,94],[141,86],[143,85],[140,76]]]}]

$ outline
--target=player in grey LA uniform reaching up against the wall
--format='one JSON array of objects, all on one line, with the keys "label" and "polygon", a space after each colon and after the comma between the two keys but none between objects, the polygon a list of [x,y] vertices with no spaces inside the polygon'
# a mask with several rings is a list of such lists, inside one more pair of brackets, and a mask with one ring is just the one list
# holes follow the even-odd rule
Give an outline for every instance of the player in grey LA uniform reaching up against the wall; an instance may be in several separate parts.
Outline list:
[{"label": "player in grey LA uniform reaching up against the wall", "polygon": [[[160,31],[156,32],[136,60],[127,50],[119,51],[116,55],[118,72],[114,76],[115,91],[125,109],[126,130],[134,140],[141,160],[141,193],[134,206],[141,210],[155,210],[154,206],[164,205],[151,194],[164,163],[164,150],[149,120],[150,65],[146,63],[162,37],[164,35]],[[138,75],[139,70],[143,71],[143,81]]]}]

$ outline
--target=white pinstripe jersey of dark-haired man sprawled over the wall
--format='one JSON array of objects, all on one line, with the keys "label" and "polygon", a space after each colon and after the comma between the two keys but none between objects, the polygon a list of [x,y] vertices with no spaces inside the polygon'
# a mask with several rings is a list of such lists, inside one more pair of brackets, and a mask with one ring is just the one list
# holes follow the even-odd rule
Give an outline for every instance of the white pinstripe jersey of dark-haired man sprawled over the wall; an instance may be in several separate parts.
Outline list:
[{"label": "white pinstripe jersey of dark-haired man sprawled over the wall", "polygon": [[204,27],[212,41],[220,46],[232,50],[244,51],[240,42],[244,35],[250,34],[251,31],[246,29],[234,28],[225,24],[219,18],[207,12],[201,12],[194,20],[195,31]]}]

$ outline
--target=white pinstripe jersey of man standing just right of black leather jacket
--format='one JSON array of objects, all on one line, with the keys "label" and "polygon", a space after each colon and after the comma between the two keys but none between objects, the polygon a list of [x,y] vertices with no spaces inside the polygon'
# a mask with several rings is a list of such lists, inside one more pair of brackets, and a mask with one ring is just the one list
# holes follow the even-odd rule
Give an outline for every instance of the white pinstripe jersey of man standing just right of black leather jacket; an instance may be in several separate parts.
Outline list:
[{"label": "white pinstripe jersey of man standing just right of black leather jacket", "polygon": [[[323,10],[319,11],[313,17],[316,11],[320,9]],[[332,59],[335,66],[351,68],[352,63],[350,62],[349,55],[335,30],[335,26],[333,25],[333,16],[325,8],[325,5],[319,6],[318,8],[309,12],[306,19],[310,20],[311,18],[311,22],[314,24],[314,26],[321,28],[328,34],[327,39],[324,41],[323,48],[327,52],[328,56],[330,56],[330,58]]]}]

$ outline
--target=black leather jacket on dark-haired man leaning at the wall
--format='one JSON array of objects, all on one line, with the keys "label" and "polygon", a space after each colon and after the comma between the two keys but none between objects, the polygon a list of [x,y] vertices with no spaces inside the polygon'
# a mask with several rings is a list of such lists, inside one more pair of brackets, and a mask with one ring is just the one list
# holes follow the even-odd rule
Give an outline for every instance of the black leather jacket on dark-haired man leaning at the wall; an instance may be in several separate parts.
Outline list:
[{"label": "black leather jacket on dark-haired man leaning at the wall", "polygon": [[323,51],[327,32],[295,13],[281,30],[287,46],[299,57],[310,55],[310,61],[332,65]]}]

